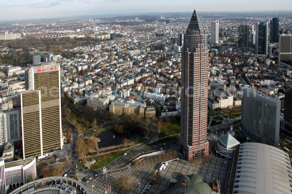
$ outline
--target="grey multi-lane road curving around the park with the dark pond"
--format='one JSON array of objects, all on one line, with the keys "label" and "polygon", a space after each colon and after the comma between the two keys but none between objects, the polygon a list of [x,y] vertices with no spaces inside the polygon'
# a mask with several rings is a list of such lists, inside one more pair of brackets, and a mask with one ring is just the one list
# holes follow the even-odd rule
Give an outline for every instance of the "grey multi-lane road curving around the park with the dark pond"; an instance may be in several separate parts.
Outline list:
[{"label": "grey multi-lane road curving around the park with the dark pond", "polygon": [[[112,124],[112,121],[107,122],[103,125],[100,126],[96,126],[95,128],[88,130],[86,133],[82,134],[82,135],[88,135],[90,133],[92,133],[95,129],[99,129],[104,126],[109,126]],[[145,147],[147,144],[152,143],[158,136],[158,128],[154,125],[154,124],[150,124],[150,127],[152,128],[152,135],[149,139],[147,139],[145,142],[143,142],[142,144],[140,144],[138,147],[135,147],[131,150],[129,150],[127,152],[126,155],[121,155],[121,157],[117,158],[116,160],[112,161],[111,163],[109,163],[108,165],[106,165],[105,167],[108,170],[119,170],[119,168],[117,167],[118,164],[128,160],[129,158],[132,158],[133,156],[137,156],[139,154],[142,154],[144,152],[147,151],[151,151],[154,149],[160,149],[162,148],[163,145],[158,145],[155,147]],[[82,136],[82,135],[73,135],[73,140],[71,142],[71,146],[74,147],[74,144],[77,141],[78,136]],[[167,145],[167,144],[166,144]],[[77,168],[76,168],[77,165]],[[68,176],[70,177],[71,175],[76,176],[76,172],[78,172],[78,174],[84,174],[86,176],[91,176],[93,177],[95,174],[102,174],[102,169],[99,170],[84,170],[80,165],[79,165],[79,158],[77,155],[73,156],[72,154],[72,163],[70,166],[64,167],[64,170],[67,172]],[[69,173],[69,171],[71,170],[71,173]],[[81,171],[83,170],[83,172]],[[98,177],[98,176],[97,176]]]}]

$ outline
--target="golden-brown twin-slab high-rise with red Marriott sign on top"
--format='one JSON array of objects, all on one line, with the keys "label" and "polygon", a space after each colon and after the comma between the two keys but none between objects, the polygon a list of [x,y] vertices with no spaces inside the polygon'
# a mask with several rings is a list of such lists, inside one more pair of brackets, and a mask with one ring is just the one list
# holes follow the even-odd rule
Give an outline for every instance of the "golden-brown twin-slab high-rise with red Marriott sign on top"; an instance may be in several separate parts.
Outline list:
[{"label": "golden-brown twin-slab high-rise with red Marriott sign on top", "polygon": [[41,156],[63,146],[60,66],[46,65],[30,70],[31,91],[20,95],[24,158]]}]

